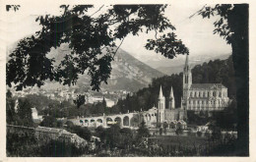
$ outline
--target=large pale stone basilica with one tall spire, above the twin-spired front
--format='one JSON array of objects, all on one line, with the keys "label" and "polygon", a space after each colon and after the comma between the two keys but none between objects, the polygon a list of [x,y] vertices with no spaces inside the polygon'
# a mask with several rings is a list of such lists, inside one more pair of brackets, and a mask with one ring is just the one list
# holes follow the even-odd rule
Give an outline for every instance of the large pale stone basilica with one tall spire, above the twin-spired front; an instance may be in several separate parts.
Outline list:
[{"label": "large pale stone basilica with one tall spire, above the twin-spired front", "polygon": [[227,88],[222,83],[193,83],[188,55],[183,70],[182,106],[192,111],[220,111],[228,106]]}]

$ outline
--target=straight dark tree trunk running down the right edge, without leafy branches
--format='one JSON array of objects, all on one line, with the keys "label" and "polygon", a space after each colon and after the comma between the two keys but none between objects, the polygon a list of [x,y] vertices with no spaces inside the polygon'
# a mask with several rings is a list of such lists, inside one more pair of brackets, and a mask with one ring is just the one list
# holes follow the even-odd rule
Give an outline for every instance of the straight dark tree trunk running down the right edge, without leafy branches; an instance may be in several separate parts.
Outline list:
[{"label": "straight dark tree trunk running down the right edge, without leafy branches", "polygon": [[236,81],[238,142],[235,154],[249,155],[249,42],[248,5],[237,5],[233,9],[232,59]]}]

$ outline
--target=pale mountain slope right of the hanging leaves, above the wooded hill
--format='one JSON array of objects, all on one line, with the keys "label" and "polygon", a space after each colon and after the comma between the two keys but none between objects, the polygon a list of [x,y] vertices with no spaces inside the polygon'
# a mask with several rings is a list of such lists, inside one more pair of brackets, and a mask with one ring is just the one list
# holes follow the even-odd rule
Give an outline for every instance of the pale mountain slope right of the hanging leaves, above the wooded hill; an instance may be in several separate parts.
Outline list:
[{"label": "pale mountain slope right of the hanging leaves, above the wooded hill", "polygon": [[137,60],[128,52],[119,49],[112,62],[112,73],[104,88],[137,91],[148,86],[152,79],[164,76],[158,70]]}]

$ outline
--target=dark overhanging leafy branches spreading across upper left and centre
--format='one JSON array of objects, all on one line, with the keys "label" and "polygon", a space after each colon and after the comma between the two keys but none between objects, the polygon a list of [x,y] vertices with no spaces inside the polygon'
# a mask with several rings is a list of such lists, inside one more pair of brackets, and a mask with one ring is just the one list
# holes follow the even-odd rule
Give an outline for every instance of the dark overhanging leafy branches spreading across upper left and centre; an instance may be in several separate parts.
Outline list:
[{"label": "dark overhanging leafy branches spreading across upper left and centre", "polygon": [[[153,30],[156,40],[148,40],[147,49],[170,59],[188,53],[182,41],[176,39],[175,27],[163,15],[167,5],[113,5],[102,14],[92,14],[92,5],[60,7],[61,16],[38,17],[41,29],[22,39],[10,54],[6,65],[9,86],[14,83],[17,90],[40,87],[46,80],[71,85],[87,72],[92,88],[98,90],[101,82],[107,83],[111,62],[128,34]],[[104,5],[97,11],[102,8]],[[163,31],[168,33],[160,35]],[[117,45],[118,40],[121,43]],[[53,65],[54,58],[47,54],[62,43],[69,43],[71,53],[65,53],[59,65]]]}]

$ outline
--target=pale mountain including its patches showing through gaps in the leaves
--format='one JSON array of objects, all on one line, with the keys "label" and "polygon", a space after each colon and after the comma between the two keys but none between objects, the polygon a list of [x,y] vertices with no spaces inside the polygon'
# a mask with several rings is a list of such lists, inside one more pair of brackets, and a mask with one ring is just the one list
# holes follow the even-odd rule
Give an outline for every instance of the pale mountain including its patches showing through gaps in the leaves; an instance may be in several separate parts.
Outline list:
[{"label": "pale mountain including its patches showing through gaps in the leaves", "polygon": [[[62,44],[57,49],[52,49],[47,55],[55,59],[55,64],[59,64],[66,53],[70,53],[68,44]],[[112,72],[108,83],[102,83],[100,88],[108,91],[128,90],[137,91],[139,88],[148,86],[152,79],[160,78],[164,74],[158,70],[137,60],[128,52],[118,49],[114,61],[111,63]],[[80,76],[77,84],[73,87],[89,87],[90,77],[88,75]],[[60,87],[57,83],[47,82],[42,88]]]}]

